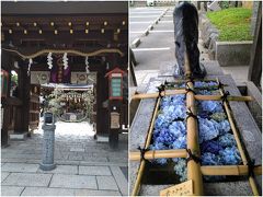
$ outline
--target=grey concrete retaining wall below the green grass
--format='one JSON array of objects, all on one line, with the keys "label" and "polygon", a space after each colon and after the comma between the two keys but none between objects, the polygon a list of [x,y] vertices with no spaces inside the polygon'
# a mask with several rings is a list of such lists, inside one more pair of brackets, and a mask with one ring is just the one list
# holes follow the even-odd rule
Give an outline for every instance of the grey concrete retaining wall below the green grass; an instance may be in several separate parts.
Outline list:
[{"label": "grey concrete retaining wall below the green grass", "polygon": [[248,66],[253,42],[216,42],[216,60],[221,67]]}]

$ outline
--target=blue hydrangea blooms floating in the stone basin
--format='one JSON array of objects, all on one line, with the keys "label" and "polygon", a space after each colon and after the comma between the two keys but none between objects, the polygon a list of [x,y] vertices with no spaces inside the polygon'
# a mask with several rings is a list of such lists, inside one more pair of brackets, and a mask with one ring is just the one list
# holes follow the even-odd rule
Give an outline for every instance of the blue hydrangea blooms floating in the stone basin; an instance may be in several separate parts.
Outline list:
[{"label": "blue hydrangea blooms floating in the stone basin", "polygon": [[[197,94],[218,94],[216,82],[194,83]],[[175,86],[175,85],[174,85]],[[185,85],[180,84],[180,88]],[[205,90],[207,88],[207,90]],[[185,94],[162,97],[155,121],[151,150],[186,149],[186,103]],[[236,140],[221,101],[197,101],[198,135],[202,165],[236,165],[241,163]],[[152,162],[167,164],[169,159]],[[172,159],[180,181],[187,178],[185,159]],[[205,176],[217,181],[224,176]]]}]

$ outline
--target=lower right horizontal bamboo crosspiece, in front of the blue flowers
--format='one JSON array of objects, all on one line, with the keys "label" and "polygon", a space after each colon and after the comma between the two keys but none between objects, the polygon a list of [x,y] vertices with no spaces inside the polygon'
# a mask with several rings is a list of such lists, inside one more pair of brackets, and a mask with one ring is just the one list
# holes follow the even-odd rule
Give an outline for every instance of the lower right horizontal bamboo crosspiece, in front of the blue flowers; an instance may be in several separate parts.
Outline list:
[{"label": "lower right horizontal bamboo crosspiece, in front of the blue flowers", "polygon": [[[248,165],[207,165],[201,166],[201,172],[206,176],[235,175],[244,176],[249,174]],[[256,166],[253,170],[254,174],[262,174],[262,166]]]}]

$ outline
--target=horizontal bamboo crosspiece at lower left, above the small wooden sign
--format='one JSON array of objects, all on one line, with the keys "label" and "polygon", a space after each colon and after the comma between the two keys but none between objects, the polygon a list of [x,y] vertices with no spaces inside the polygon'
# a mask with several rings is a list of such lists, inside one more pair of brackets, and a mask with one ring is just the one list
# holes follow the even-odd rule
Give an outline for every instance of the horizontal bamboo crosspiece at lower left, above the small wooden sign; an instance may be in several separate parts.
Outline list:
[{"label": "horizontal bamboo crosspiece at lower left, above the small wooden sign", "polygon": [[[176,150],[155,150],[147,151],[145,153],[146,160],[155,160],[160,158],[186,158],[187,152],[185,149],[176,149]],[[129,160],[138,161],[140,160],[140,152],[129,152]]]}]

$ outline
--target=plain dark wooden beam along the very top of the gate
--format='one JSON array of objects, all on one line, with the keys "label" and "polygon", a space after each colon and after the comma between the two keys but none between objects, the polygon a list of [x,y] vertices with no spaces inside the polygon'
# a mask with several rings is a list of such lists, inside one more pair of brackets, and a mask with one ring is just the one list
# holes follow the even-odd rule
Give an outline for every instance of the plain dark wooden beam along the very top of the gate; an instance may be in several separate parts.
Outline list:
[{"label": "plain dark wooden beam along the very top of the gate", "polygon": [[64,14],[128,14],[128,1],[79,1],[79,2],[8,2],[1,3],[2,15],[64,15]]}]

